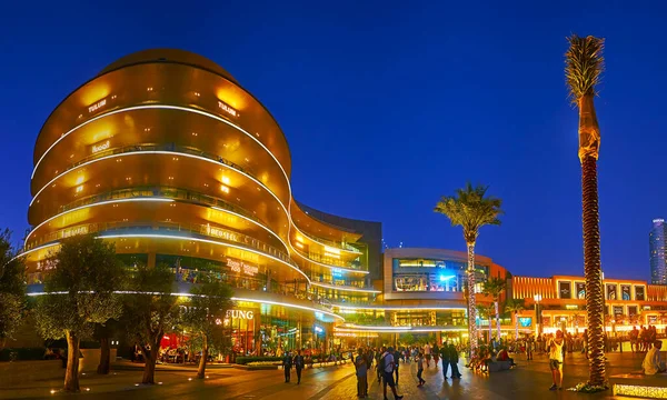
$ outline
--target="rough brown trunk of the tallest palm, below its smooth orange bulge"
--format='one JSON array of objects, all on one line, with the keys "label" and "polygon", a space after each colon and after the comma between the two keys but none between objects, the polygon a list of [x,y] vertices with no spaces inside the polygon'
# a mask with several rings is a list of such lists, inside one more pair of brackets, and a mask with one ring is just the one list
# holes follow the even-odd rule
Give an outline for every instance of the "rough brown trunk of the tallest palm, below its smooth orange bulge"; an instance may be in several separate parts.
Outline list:
[{"label": "rough brown trunk of the tallest palm, below its smooth orange bulge", "polygon": [[584,269],[586,273],[586,312],[588,313],[589,384],[605,386],[605,342],[603,320],[603,279],[600,267],[600,233],[597,190],[597,159],[581,159],[584,220]]}]

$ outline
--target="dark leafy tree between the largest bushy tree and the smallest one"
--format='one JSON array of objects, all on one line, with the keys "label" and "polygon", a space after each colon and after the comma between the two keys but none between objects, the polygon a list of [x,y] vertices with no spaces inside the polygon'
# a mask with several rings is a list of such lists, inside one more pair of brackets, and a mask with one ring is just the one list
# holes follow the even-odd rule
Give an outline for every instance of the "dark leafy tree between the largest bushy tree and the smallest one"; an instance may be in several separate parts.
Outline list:
[{"label": "dark leafy tree between the largest bushy tree and the smallest one", "polygon": [[173,283],[173,274],[165,264],[155,268],[138,264],[129,280],[131,293],[126,297],[123,323],[129,337],[143,350],[142,383],[156,382],[160,341],[180,323],[177,297],[171,296]]}]

